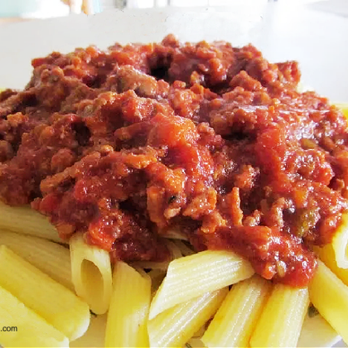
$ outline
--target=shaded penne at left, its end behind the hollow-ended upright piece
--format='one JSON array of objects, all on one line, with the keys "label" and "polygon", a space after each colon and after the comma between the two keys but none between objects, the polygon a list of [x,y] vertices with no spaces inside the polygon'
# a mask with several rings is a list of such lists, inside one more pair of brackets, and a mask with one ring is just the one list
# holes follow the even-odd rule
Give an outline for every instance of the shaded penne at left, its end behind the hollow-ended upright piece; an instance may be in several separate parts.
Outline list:
[{"label": "shaded penne at left, its end behind the hollow-ended upright piece", "polygon": [[8,246],[52,279],[74,291],[68,248],[47,239],[5,230],[0,231],[0,245]]}]

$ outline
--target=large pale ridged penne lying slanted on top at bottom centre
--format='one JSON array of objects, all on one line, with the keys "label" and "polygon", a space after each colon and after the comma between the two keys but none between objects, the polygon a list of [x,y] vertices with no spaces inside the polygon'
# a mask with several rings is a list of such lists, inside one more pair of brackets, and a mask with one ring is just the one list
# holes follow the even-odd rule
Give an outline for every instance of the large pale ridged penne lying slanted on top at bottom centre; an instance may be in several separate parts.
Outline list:
[{"label": "large pale ridged penne lying slanted on top at bottom centre", "polygon": [[149,318],[206,292],[250,278],[251,264],[230,251],[202,251],[173,260],[150,307]]}]

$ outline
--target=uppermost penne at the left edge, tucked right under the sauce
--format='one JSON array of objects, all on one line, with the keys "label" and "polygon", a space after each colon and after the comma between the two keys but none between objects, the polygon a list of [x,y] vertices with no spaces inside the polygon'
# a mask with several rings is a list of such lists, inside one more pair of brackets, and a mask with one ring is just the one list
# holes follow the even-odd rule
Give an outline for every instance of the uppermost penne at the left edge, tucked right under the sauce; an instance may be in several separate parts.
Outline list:
[{"label": "uppermost penne at the left edge, tucked right under the sauce", "polygon": [[3,230],[62,242],[56,228],[31,207],[11,207],[0,202],[0,216],[0,228]]}]

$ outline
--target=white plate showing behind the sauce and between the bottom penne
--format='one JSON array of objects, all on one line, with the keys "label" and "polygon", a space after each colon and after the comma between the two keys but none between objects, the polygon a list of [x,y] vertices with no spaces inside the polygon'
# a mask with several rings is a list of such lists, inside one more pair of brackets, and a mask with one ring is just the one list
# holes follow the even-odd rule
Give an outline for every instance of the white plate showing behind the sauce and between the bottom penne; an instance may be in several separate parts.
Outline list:
[{"label": "white plate showing behind the sauce and between the bottom penne", "polygon": [[[229,8],[113,10],[92,17],[75,15],[3,25],[0,86],[24,87],[31,75],[31,58],[54,50],[70,52],[90,44],[104,49],[116,41],[159,41],[168,33],[187,41],[252,42],[270,61],[299,61],[306,85],[331,100],[348,102],[348,18],[281,0],[237,0]],[[104,317],[93,319],[93,326],[102,327],[103,323]],[[307,323],[306,333],[310,333],[311,323]],[[326,336],[302,335],[301,345],[334,345],[337,335],[322,324],[320,333]],[[93,335],[93,339],[98,345],[100,338]],[[83,340],[77,345],[85,345],[86,338]],[[345,345],[339,342],[338,347]]]}]

